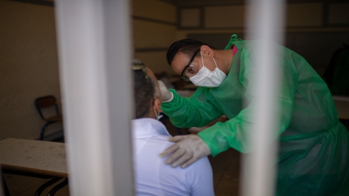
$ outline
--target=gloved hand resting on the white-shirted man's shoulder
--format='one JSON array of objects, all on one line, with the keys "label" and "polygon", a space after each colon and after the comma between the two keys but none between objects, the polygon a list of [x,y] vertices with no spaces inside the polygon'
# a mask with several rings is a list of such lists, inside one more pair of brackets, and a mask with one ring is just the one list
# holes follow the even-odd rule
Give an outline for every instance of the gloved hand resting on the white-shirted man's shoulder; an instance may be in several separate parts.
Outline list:
[{"label": "gloved hand resting on the white-shirted man's shoulder", "polygon": [[160,154],[161,157],[172,155],[165,161],[166,164],[171,164],[172,167],[181,165],[181,168],[188,167],[191,163],[209,156],[211,150],[209,146],[198,135],[178,135],[171,137],[170,142],[177,142]]}]

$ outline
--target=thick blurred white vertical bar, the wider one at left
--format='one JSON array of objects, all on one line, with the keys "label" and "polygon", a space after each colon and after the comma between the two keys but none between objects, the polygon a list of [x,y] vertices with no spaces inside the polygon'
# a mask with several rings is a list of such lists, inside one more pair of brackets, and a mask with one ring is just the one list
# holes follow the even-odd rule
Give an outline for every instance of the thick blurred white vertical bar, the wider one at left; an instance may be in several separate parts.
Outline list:
[{"label": "thick blurred white vertical bar, the wider one at left", "polygon": [[70,195],[133,195],[128,0],[55,7]]}]

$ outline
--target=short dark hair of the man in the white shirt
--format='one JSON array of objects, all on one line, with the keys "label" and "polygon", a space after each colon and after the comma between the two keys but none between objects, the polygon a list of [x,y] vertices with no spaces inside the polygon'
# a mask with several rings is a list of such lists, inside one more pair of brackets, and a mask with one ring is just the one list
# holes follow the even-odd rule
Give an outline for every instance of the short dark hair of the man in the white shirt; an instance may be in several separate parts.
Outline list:
[{"label": "short dark hair of the man in the white shirt", "polygon": [[[142,64],[142,61],[134,60],[133,65]],[[133,70],[134,88],[133,95],[135,98],[135,118],[140,119],[149,115],[149,107],[151,106],[151,100],[154,99],[156,94],[156,85],[154,81],[142,70]]]}]

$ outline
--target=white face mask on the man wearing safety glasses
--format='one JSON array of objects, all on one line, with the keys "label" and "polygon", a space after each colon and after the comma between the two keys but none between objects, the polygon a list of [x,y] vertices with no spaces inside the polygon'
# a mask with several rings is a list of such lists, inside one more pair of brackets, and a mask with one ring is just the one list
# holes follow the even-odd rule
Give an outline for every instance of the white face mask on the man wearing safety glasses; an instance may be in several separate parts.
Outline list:
[{"label": "white face mask on the man wearing safety glasses", "polygon": [[[193,82],[195,86],[204,86],[204,87],[221,86],[222,82],[225,80],[227,75],[225,75],[225,73],[223,73],[223,71],[221,71],[218,68],[216,61],[214,61],[214,63],[216,64],[216,68],[213,71],[211,71],[205,67],[202,54],[201,54],[201,59],[202,59],[202,68],[198,71],[198,73],[196,73],[196,75],[189,78],[189,80],[191,80],[191,82]],[[212,57],[212,59],[214,59],[214,57]]]}]

